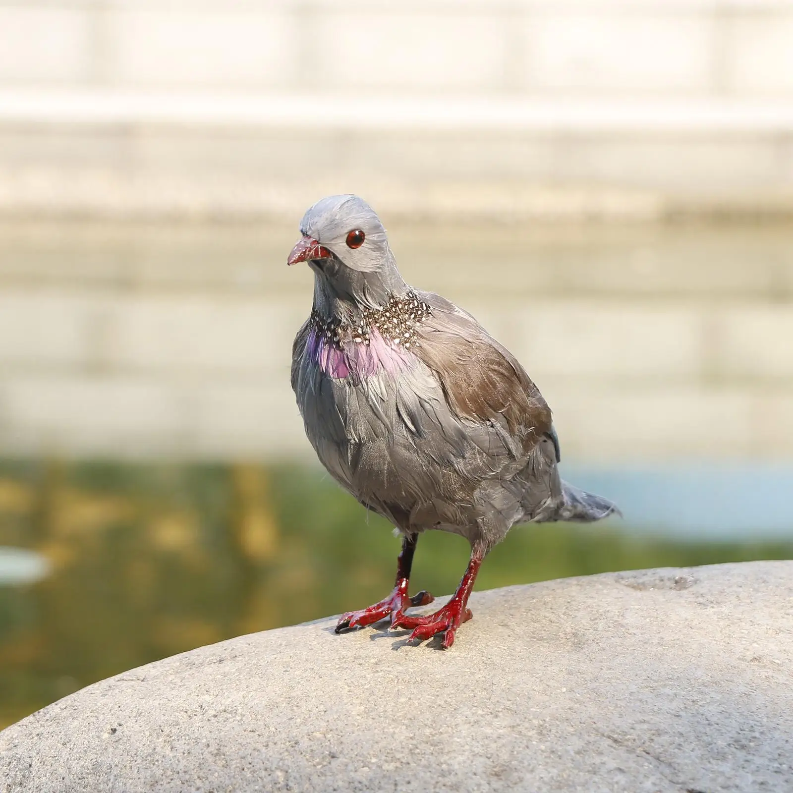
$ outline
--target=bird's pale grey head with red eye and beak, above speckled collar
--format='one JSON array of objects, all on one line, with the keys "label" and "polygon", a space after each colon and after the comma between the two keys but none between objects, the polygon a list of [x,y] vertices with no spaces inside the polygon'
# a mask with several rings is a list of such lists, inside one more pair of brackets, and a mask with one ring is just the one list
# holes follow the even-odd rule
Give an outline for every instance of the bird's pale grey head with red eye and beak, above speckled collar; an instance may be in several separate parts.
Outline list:
[{"label": "bird's pale grey head with red eye and beak, above speckled collar", "polygon": [[354,314],[385,305],[407,289],[385,228],[362,198],[321,198],[306,211],[300,231],[303,237],[287,263],[308,262],[314,271],[314,308],[320,314]]}]

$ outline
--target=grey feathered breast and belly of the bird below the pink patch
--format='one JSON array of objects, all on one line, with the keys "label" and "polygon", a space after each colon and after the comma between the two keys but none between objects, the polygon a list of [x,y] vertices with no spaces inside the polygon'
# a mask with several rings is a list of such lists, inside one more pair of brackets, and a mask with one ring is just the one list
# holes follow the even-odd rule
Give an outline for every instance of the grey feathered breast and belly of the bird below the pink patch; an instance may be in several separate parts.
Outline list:
[{"label": "grey feathered breast and belly of the bird below the pink patch", "polygon": [[301,367],[306,434],[332,477],[402,531],[499,542],[522,516],[510,478],[525,466],[501,434],[452,415],[420,362],[356,381]]}]

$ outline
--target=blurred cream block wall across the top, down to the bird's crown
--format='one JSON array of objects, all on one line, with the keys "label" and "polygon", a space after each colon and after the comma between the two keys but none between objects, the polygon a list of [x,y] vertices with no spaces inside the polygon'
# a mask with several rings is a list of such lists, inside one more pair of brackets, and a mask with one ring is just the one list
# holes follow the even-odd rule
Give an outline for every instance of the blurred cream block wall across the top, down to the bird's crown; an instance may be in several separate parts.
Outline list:
[{"label": "blurred cream block wall across the top, down to the bird's crown", "polygon": [[0,0],[0,209],[793,207],[788,0]]}]

